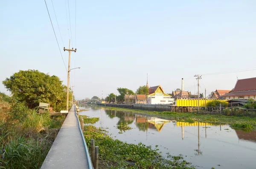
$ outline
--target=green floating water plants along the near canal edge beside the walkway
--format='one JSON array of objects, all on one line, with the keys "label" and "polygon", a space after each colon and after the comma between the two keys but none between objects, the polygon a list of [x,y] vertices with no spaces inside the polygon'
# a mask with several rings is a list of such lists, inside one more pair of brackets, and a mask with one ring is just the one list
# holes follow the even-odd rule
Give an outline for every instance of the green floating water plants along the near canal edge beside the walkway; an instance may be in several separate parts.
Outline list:
[{"label": "green floating water plants along the near canal edge beside the walkway", "polygon": [[[87,121],[90,120],[87,117]],[[99,119],[98,119],[99,120]],[[95,121],[96,122],[96,121]],[[87,124],[87,123],[85,123]],[[164,159],[154,148],[144,144],[127,144],[114,140],[107,131],[93,125],[84,126],[84,138],[90,149],[90,140],[95,139],[99,146],[99,168],[101,169],[192,169],[191,163],[183,160],[182,155]]]}]

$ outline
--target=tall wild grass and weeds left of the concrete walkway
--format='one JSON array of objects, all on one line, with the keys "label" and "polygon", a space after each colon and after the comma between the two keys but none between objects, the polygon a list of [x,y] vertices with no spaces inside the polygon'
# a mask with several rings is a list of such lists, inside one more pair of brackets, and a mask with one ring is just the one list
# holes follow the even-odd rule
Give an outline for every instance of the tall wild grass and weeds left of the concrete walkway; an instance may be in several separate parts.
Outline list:
[{"label": "tall wild grass and weeds left of the concrete walkway", "polygon": [[0,168],[40,168],[63,121],[20,102],[0,103]]}]

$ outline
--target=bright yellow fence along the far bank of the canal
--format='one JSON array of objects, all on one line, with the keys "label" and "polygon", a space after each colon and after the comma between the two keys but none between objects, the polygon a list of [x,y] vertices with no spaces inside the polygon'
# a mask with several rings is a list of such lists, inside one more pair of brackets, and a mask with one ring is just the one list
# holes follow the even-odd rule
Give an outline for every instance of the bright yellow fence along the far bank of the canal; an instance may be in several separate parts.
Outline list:
[{"label": "bright yellow fence along the far bank of the canal", "polygon": [[[213,100],[206,100],[206,105],[207,103],[211,102]],[[221,100],[221,102],[226,102],[227,100]],[[227,102],[226,102],[227,103]],[[183,106],[183,107],[198,107],[198,100],[196,99],[191,99],[191,100],[182,100],[179,99],[177,100],[177,106]],[[199,100],[199,107],[205,107],[205,100],[201,99]]]}]

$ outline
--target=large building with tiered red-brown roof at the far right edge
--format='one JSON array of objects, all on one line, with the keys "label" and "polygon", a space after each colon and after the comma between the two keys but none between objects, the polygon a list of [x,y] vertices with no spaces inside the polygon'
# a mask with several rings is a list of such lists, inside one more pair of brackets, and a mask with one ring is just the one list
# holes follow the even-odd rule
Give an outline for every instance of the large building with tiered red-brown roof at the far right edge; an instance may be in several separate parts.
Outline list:
[{"label": "large building with tiered red-brown roof at the far right edge", "polygon": [[230,93],[223,95],[224,99],[256,99],[256,77],[249,79],[239,79]]}]

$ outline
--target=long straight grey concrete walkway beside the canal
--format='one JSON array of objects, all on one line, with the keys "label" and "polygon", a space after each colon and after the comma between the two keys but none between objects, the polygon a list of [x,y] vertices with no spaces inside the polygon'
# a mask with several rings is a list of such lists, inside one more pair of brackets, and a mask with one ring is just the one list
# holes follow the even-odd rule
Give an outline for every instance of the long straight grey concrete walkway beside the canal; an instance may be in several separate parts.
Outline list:
[{"label": "long straight grey concrete walkway beside the canal", "polygon": [[74,105],[58,132],[41,169],[89,169]]}]

